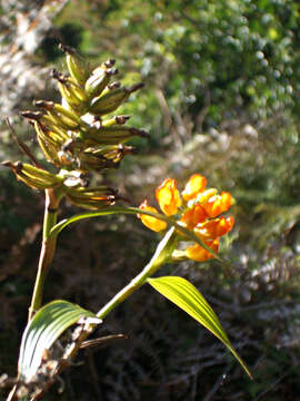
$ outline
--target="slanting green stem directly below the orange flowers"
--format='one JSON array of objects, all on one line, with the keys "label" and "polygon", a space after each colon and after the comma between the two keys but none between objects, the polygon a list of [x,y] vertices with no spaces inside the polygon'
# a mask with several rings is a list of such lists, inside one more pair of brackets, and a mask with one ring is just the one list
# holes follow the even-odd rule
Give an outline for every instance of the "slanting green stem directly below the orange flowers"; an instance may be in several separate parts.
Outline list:
[{"label": "slanting green stem directly below the orange flowers", "polygon": [[129,295],[140,288],[147,278],[152,276],[161,265],[168,262],[178,242],[178,235],[174,227],[170,228],[160,244],[157,247],[151,261],[144,266],[140,274],[138,274],[127,286],[124,286],[118,294],[113,296],[98,313],[100,319],[106,317],[116,306],[122,303]]}]

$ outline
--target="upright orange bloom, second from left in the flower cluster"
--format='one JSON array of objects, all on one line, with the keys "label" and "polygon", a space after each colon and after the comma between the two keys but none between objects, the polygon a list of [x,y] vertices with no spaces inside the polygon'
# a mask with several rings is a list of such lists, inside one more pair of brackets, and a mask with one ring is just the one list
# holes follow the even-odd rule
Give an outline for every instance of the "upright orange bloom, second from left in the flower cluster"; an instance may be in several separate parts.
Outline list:
[{"label": "upright orange bloom, second from left in the flower cluster", "polygon": [[158,187],[156,197],[161,211],[167,216],[177,214],[178,207],[181,206],[181,198],[179,190],[177,189],[176,179],[164,179],[164,182]]}]

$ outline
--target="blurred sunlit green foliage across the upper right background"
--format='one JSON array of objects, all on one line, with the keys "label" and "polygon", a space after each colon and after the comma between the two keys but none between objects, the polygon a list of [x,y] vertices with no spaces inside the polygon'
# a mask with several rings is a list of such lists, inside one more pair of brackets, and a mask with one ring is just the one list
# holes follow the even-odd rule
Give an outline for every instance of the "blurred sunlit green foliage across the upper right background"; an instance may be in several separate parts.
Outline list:
[{"label": "blurred sunlit green foliage across the upper right background", "polygon": [[[141,7],[139,0],[116,0],[84,7],[72,2],[58,19],[61,25],[71,16],[90,31],[82,51],[116,53],[129,70],[136,67],[163,90],[171,116],[179,108],[197,129],[206,97],[204,127],[244,114],[254,120],[283,110],[297,116],[296,1],[156,0]],[[144,105],[146,116],[151,105]]]}]

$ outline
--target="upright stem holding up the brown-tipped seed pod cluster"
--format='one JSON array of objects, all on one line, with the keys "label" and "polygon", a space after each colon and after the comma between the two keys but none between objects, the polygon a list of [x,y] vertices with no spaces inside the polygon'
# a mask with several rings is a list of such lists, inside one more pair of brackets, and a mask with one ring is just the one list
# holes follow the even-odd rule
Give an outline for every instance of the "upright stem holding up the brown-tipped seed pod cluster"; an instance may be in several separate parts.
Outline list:
[{"label": "upright stem holding up the brown-tipped seed pod cluster", "polygon": [[60,196],[56,193],[53,188],[46,189],[44,193],[46,193],[46,202],[44,202],[42,246],[40,252],[40,260],[39,260],[33,294],[29,307],[28,321],[30,321],[33,317],[34,313],[41,306],[46,276],[49,266],[53,260],[56,245],[57,245],[57,236],[49,237],[49,234],[51,228],[57,224]]}]

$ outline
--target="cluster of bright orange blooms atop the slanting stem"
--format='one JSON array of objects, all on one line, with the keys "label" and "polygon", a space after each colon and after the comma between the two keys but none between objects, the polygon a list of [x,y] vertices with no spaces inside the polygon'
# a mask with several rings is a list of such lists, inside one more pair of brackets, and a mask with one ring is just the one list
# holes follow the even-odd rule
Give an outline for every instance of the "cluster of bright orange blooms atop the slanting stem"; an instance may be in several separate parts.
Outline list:
[{"label": "cluster of bright orange blooms atop the slanting stem", "polygon": [[[156,198],[166,216],[177,217],[178,223],[192,231],[214,253],[219,250],[219,237],[227,234],[233,226],[232,216],[224,217],[233,203],[229,193],[217,189],[206,189],[207,179],[200,174],[194,174],[188,180],[186,188],[179,193],[177,182],[167,178],[157,188]],[[144,200],[140,205],[141,211],[158,213],[154,207]],[[152,216],[139,214],[142,223],[154,232],[167,228],[167,223]],[[214,256],[199,244],[188,246],[181,255],[193,261],[203,262]]]}]

